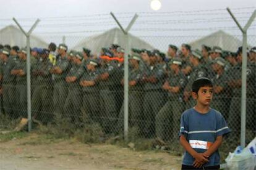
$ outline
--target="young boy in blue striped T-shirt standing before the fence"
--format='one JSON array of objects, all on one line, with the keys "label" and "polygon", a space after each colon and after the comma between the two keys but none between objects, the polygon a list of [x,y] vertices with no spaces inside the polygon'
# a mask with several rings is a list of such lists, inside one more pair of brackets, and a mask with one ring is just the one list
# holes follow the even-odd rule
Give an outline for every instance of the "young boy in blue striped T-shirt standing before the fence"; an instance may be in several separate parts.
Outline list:
[{"label": "young boy in blue striped T-shirt standing before the fence", "polygon": [[228,134],[225,119],[220,112],[210,108],[213,84],[208,78],[198,78],[192,84],[194,108],[181,116],[180,142],[186,152],[182,169],[220,169],[220,147]]}]

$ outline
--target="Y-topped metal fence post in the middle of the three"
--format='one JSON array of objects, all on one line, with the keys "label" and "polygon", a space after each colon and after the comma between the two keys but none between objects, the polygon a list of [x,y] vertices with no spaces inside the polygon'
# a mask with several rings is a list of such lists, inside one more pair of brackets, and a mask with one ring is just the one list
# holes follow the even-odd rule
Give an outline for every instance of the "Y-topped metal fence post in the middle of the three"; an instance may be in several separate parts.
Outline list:
[{"label": "Y-topped metal fence post in the middle of the three", "polygon": [[125,56],[124,56],[124,139],[128,140],[128,127],[129,127],[129,82],[128,82],[128,74],[129,74],[129,61],[128,56],[130,52],[130,42],[129,42],[129,30],[132,28],[132,25],[134,25],[135,20],[138,18],[138,15],[135,14],[134,18],[130,21],[129,25],[127,26],[126,30],[122,27],[122,25],[119,23],[117,18],[114,16],[113,12],[110,12],[110,15],[114,18],[117,25],[120,27],[122,32],[124,33],[124,38],[126,41],[126,47],[125,47]]}]

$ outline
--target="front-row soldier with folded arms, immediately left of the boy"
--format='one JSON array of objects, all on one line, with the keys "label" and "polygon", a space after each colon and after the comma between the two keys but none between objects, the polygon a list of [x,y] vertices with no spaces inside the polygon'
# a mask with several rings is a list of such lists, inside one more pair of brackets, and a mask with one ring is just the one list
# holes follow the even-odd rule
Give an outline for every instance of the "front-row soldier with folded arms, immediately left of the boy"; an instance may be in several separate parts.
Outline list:
[{"label": "front-row soldier with folded arms, immediately left of the boy", "polygon": [[168,65],[171,71],[163,84],[168,100],[156,115],[156,137],[164,141],[178,138],[179,119],[184,111],[182,95],[186,86],[186,76],[181,72],[182,60],[175,57]]}]

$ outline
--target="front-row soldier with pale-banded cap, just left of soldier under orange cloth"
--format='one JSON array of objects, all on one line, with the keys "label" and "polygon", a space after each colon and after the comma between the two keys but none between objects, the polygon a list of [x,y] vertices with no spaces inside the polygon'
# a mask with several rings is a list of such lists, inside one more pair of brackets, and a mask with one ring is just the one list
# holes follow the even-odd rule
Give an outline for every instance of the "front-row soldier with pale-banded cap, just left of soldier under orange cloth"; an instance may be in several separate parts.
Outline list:
[{"label": "front-row soldier with pale-banded cap, just left of soldier under orange cloth", "polygon": [[[98,62],[95,59],[90,59],[87,62],[86,70],[83,72],[80,79],[80,86],[83,91],[83,110],[85,115],[85,123],[101,123],[101,115],[99,108],[99,83],[98,79],[100,72],[98,70]],[[103,121],[106,121],[103,119]]]}]

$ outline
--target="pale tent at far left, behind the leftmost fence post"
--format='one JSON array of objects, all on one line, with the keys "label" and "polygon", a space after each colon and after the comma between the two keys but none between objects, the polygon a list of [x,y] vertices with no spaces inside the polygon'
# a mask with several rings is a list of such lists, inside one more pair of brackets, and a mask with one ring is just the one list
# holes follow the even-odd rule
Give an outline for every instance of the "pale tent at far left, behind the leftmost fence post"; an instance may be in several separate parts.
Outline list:
[{"label": "pale tent at far left, behind the leftmost fence post", "polygon": [[[19,28],[9,25],[0,30],[0,44],[9,44],[10,46],[27,46],[27,39]],[[31,35],[30,47],[48,47],[48,43],[40,38]]]}]

